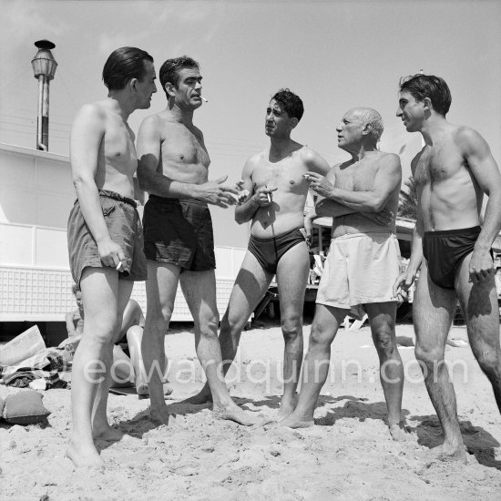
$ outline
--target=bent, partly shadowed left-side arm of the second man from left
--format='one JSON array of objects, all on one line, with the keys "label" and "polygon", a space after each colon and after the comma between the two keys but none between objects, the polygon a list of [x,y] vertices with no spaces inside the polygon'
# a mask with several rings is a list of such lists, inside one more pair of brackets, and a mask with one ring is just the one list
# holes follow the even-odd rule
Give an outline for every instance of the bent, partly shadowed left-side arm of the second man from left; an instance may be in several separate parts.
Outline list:
[{"label": "bent, partly shadowed left-side arm of the second man from left", "polygon": [[220,207],[234,203],[230,193],[237,190],[222,183],[228,176],[208,181],[203,184],[184,183],[169,179],[158,172],[160,162],[160,127],[158,118],[148,117],[143,120],[138,132],[138,181],[140,189],[150,195],[175,199],[199,199]]}]

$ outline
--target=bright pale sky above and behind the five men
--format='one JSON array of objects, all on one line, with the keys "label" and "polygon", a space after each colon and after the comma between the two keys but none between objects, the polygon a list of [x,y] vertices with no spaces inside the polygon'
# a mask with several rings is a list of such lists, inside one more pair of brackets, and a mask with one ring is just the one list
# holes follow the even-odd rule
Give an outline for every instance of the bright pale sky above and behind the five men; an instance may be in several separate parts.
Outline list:
[{"label": "bright pale sky above and behind the five men", "polygon": [[[377,109],[385,123],[381,148],[402,153],[407,178],[420,137],[395,117],[398,80],[420,69],[445,78],[453,97],[449,120],[478,130],[501,162],[499,0],[0,0],[0,8],[0,141],[7,144],[35,148],[30,61],[34,42],[46,38],[56,44],[58,63],[50,87],[49,150],[55,153],[68,153],[77,108],[106,97],[107,56],[119,46],[138,46],[157,70],[182,54],[199,61],[209,103],[195,123],[205,135],[211,179],[240,179],[246,158],[268,144],[264,111],[281,87],[290,87],[305,107],[292,138],[332,164],[347,158],[335,133],[343,113]],[[130,126],[137,131],[142,118],[165,104],[158,89]],[[232,220],[232,211],[225,212],[222,220]],[[218,241],[217,231],[220,245],[224,233]]]}]

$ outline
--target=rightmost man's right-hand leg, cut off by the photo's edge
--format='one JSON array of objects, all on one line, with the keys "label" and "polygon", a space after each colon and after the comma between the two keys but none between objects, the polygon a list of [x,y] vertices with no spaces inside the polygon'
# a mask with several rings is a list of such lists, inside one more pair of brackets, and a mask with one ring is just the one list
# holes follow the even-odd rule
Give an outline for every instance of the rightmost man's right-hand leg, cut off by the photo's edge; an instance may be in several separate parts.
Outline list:
[{"label": "rightmost man's right-hand leg, cut off by the photo's edge", "polygon": [[470,260],[471,255],[463,261],[456,277],[455,289],[465,312],[473,354],[492,384],[496,404],[501,412],[501,348],[496,281],[494,276],[475,285],[468,281]]}]

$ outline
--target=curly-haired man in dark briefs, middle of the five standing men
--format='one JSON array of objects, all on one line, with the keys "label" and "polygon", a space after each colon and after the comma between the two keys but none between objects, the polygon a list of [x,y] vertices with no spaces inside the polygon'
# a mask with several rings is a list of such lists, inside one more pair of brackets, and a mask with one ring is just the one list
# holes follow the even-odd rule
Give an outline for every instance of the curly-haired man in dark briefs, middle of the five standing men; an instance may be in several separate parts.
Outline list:
[{"label": "curly-haired man in dark briefs, middle of the five standing men", "polygon": [[[291,139],[302,118],[300,97],[281,89],[266,109],[265,133],[269,148],[249,158],[242,186],[248,199],[235,209],[235,220],[251,222],[251,240],[221,321],[220,345],[227,373],[235,358],[240,334],[277,277],[281,332],[285,342],[283,396],[279,417],[291,414],[302,364],[302,308],[310,272],[304,230],[304,203],[308,194],[306,172],[326,174],[329,164],[311,148]],[[207,386],[199,394],[210,398]]]}]

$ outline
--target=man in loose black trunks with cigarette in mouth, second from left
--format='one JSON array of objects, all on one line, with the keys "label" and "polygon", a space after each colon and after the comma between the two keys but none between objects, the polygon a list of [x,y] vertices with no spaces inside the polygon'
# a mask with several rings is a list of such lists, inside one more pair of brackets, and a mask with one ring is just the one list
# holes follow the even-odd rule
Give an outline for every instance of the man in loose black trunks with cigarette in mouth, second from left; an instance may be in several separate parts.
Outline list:
[{"label": "man in loose black trunks with cigarette in mouth, second from left", "polygon": [[148,374],[151,417],[169,422],[164,401],[164,336],[178,283],[195,323],[195,348],[207,375],[213,411],[222,419],[251,424],[231,398],[221,373],[216,304],[214,240],[207,204],[226,208],[235,202],[226,178],[208,181],[210,158],[193,113],[202,104],[199,64],[188,56],[168,59],[160,68],[168,107],[145,118],[138,134],[138,179],[149,193],[144,210],[148,260],[148,310],[143,360]]}]

